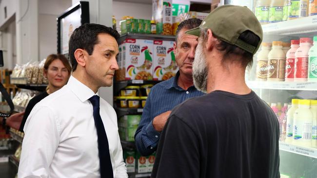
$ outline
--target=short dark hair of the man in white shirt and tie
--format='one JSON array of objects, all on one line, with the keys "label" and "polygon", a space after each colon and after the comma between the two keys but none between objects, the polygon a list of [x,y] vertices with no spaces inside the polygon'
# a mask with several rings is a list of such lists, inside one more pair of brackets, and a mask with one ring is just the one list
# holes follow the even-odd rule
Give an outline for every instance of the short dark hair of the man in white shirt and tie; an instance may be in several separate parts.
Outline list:
[{"label": "short dark hair of the man in white shirt and tie", "polygon": [[95,23],[85,23],[74,30],[72,36],[70,36],[68,44],[68,53],[73,71],[77,68],[77,61],[74,56],[75,51],[77,49],[83,49],[91,55],[94,51],[94,46],[99,43],[99,34],[109,34],[117,41],[120,37],[117,30]]}]

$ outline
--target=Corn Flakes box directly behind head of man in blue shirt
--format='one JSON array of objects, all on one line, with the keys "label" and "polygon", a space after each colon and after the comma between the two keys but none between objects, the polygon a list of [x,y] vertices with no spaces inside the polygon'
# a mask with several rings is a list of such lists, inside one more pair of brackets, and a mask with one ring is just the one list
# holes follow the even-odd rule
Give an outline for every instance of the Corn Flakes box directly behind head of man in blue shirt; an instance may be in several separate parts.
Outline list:
[{"label": "Corn Flakes box directly behind head of man in blue shirt", "polygon": [[153,41],[153,80],[167,80],[178,71],[173,43],[174,41]]}]

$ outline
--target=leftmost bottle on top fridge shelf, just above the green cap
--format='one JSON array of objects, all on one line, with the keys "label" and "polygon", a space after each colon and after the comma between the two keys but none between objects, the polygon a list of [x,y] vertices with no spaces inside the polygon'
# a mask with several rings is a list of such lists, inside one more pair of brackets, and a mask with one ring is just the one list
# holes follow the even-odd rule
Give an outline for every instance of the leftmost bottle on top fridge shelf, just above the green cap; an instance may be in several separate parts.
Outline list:
[{"label": "leftmost bottle on top fridge shelf, just above the green cap", "polygon": [[258,0],[256,5],[256,17],[260,24],[268,24],[270,16],[271,0]]}]

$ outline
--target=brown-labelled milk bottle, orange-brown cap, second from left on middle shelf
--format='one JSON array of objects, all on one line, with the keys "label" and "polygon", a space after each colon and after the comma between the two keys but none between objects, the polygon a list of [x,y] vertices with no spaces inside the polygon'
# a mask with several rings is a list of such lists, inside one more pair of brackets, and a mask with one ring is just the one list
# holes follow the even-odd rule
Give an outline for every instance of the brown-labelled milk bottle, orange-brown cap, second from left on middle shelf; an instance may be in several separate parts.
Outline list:
[{"label": "brown-labelled milk bottle, orange-brown cap, second from left on middle shelf", "polygon": [[268,54],[267,81],[284,81],[285,53],[281,41],[273,41],[272,50]]}]

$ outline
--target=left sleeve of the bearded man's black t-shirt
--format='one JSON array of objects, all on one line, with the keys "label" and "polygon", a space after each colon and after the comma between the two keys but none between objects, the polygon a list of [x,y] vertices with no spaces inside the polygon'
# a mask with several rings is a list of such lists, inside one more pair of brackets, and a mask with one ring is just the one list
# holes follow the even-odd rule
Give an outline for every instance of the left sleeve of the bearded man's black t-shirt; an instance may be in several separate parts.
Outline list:
[{"label": "left sleeve of the bearded man's black t-shirt", "polygon": [[161,133],[152,178],[199,178],[197,136],[175,115]]}]

